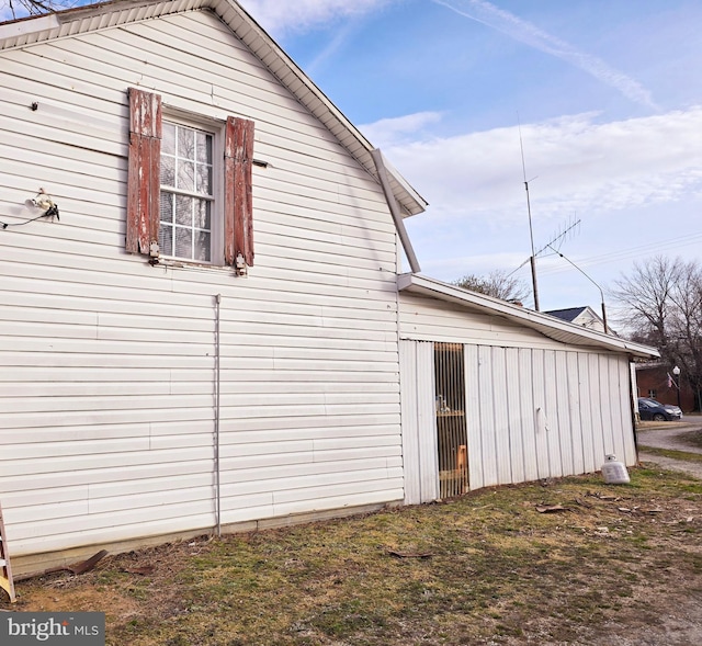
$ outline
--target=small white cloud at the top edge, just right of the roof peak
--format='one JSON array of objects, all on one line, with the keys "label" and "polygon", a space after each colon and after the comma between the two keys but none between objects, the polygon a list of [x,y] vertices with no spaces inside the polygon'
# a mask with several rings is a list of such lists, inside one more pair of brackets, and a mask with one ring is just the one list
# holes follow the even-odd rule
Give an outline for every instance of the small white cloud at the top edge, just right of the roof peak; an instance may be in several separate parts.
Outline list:
[{"label": "small white cloud at the top edge, just right of the roof peak", "polygon": [[276,36],[286,32],[299,32],[358,16],[382,8],[393,0],[240,0],[241,4],[265,29]]}]

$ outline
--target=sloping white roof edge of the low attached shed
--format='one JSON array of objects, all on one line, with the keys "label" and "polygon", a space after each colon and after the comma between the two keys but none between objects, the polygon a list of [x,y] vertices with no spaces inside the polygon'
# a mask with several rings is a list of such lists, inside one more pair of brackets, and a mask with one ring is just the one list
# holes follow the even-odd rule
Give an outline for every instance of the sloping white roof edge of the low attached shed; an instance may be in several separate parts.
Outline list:
[{"label": "sloping white roof edge of the low attached shed", "polygon": [[612,352],[625,352],[630,356],[643,359],[660,356],[660,353],[655,348],[590,330],[547,314],[512,305],[507,301],[471,292],[434,279],[409,273],[400,274],[397,276],[397,287],[400,292],[430,296],[473,310],[500,316],[564,343],[587,345]]}]

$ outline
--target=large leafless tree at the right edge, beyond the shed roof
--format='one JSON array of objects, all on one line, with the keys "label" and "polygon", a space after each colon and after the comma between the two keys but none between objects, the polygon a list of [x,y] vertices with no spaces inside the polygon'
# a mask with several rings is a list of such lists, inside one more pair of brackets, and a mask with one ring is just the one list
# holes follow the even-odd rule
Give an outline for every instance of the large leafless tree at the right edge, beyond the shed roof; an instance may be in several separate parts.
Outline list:
[{"label": "large leafless tree at the right edge, beyond the shed roof", "polygon": [[611,291],[624,306],[623,321],[632,338],[660,352],[682,378],[702,392],[702,267],[656,257],[634,264],[634,271],[615,281]]}]

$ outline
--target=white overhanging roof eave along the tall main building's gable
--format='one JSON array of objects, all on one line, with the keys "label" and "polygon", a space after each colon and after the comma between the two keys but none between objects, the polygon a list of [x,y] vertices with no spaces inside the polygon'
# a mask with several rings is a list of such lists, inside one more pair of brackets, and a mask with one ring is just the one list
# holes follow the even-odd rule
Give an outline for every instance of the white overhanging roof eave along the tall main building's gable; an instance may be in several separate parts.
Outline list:
[{"label": "white overhanging roof eave along the tall main building's gable", "polygon": [[[227,24],[265,68],[380,183],[371,157],[373,145],[237,0],[112,0],[49,14],[21,18],[0,23],[0,50],[45,43],[160,15],[204,9],[213,11]],[[393,194],[403,214],[422,213],[428,206],[427,201],[392,167],[388,168],[388,173]]]}]

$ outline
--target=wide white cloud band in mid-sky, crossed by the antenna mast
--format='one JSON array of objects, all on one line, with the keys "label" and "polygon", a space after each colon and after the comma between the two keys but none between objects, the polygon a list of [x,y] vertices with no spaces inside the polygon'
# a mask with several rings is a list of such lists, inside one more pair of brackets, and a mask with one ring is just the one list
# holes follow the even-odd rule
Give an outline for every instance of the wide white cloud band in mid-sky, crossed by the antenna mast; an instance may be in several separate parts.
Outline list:
[{"label": "wide white cloud band in mid-sky, crossed by the antenna mast", "polygon": [[[426,123],[424,113],[404,124]],[[702,106],[596,123],[595,114],[521,127],[532,207],[541,218],[595,217],[702,193]],[[384,120],[390,135],[394,123]],[[484,226],[521,222],[525,211],[520,133],[497,128],[417,138],[385,149],[432,204],[438,219]]]}]

